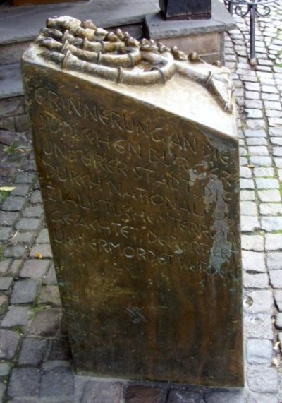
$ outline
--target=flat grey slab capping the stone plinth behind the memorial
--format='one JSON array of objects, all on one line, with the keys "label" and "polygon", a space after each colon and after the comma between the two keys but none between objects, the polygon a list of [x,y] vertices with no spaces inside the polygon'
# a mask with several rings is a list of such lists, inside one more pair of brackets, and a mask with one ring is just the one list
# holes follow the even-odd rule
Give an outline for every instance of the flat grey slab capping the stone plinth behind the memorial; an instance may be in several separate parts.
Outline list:
[{"label": "flat grey slab capping the stone plinth behind the memorial", "polygon": [[145,24],[152,39],[185,37],[208,32],[226,32],[235,28],[235,22],[219,1],[212,1],[209,20],[164,20],[159,13],[146,16]]}]

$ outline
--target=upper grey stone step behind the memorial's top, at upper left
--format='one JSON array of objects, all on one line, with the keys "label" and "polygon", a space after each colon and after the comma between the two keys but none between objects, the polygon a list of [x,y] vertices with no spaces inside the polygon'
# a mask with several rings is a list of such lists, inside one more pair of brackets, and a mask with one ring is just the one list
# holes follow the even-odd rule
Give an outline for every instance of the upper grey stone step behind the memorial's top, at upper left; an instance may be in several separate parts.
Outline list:
[{"label": "upper grey stone step behind the memorial's top, at upper left", "polygon": [[103,28],[128,26],[130,30],[130,26],[141,26],[145,16],[159,10],[157,0],[131,0],[129,4],[125,0],[92,1],[5,8],[0,15],[0,65],[18,62],[49,17],[91,18]]}]

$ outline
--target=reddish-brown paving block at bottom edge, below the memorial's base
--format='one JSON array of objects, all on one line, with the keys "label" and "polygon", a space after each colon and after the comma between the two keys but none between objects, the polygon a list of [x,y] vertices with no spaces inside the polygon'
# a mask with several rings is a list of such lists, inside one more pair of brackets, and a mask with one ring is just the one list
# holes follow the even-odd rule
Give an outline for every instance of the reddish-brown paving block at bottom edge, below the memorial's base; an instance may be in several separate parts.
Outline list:
[{"label": "reddish-brown paving block at bottom edge, below the memorial's base", "polygon": [[159,387],[128,386],[125,391],[125,403],[165,403],[166,390]]}]

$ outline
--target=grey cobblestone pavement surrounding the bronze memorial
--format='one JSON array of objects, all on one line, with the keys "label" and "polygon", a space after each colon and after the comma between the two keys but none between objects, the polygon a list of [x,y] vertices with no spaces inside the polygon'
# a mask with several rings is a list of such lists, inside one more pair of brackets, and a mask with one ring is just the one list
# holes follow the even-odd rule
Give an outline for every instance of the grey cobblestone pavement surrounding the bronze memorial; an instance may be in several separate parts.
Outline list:
[{"label": "grey cobblestone pavement surrounding the bronze memorial", "polygon": [[270,16],[259,18],[256,68],[247,64],[247,20],[237,18],[238,29],[226,37],[226,61],[240,110],[245,389],[145,385],[74,375],[30,141],[18,133],[11,144],[8,133],[2,132],[0,180],[15,187],[8,197],[0,194],[3,402],[282,402],[281,20],[282,1],[272,6]]}]

